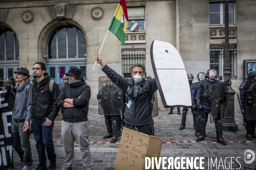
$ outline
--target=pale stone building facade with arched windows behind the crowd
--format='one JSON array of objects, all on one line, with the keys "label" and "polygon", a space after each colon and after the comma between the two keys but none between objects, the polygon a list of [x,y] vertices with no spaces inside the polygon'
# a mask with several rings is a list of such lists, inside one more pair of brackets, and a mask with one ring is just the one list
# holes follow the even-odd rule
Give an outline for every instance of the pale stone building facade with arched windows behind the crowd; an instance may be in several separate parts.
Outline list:
[{"label": "pale stone building facade with arched windows behind the crowd", "polygon": [[[125,45],[109,33],[101,51],[117,73],[129,77],[129,63],[139,61],[154,77],[150,46],[161,40],[177,48],[187,73],[196,76],[215,68],[223,75],[224,0],[126,1],[129,26],[138,23],[139,29],[127,31]],[[243,60],[256,59],[256,1],[229,2],[232,87],[239,92]],[[98,64],[92,69],[117,4],[118,0],[0,0],[0,76],[14,76],[12,71],[19,67],[32,74],[33,63],[43,61],[51,78],[61,84],[63,73],[78,66],[91,87],[90,105],[98,105],[99,77],[105,74]]]}]

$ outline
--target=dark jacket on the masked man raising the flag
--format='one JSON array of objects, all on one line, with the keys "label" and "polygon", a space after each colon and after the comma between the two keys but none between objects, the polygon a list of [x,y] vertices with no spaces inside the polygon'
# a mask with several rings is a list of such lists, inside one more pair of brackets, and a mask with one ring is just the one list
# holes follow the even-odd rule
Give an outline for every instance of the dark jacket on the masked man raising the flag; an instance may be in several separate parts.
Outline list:
[{"label": "dark jacket on the masked man raising the flag", "polygon": [[[105,65],[104,68],[102,68],[102,71],[104,71],[105,74],[107,74],[107,76],[111,79],[111,81],[127,95],[125,122],[134,126],[151,124],[152,116],[149,111],[149,102],[151,101],[151,98],[144,83],[145,79],[143,78],[143,81],[140,83],[137,97],[134,99],[131,95],[134,86],[134,79],[123,78],[111,68],[109,68],[108,65]],[[149,79],[147,81],[149,81],[151,86],[151,94],[154,94],[154,92],[157,91],[156,80]],[[129,105],[129,101],[132,102],[131,105]]]}]

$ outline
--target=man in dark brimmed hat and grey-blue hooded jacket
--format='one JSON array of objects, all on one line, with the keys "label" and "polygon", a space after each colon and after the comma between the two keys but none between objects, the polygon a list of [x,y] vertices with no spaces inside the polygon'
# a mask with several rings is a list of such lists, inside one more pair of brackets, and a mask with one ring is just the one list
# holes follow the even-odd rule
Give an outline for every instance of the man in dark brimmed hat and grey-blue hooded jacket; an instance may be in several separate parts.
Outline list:
[{"label": "man in dark brimmed hat and grey-blue hooded jacket", "polygon": [[29,71],[20,67],[14,72],[15,80],[18,82],[15,105],[12,111],[12,146],[20,156],[20,162],[14,165],[15,168],[23,167],[22,170],[32,168],[32,153],[29,141],[29,122],[32,108],[32,86],[26,81],[29,78]]}]

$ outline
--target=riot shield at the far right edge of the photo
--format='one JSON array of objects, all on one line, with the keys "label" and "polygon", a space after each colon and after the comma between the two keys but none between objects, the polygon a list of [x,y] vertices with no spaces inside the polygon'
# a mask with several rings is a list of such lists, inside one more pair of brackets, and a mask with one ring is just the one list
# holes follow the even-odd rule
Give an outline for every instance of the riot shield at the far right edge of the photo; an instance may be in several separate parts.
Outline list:
[{"label": "riot shield at the far right edge of the photo", "polygon": [[256,82],[247,80],[245,86],[247,87],[245,93],[245,118],[256,120]]}]

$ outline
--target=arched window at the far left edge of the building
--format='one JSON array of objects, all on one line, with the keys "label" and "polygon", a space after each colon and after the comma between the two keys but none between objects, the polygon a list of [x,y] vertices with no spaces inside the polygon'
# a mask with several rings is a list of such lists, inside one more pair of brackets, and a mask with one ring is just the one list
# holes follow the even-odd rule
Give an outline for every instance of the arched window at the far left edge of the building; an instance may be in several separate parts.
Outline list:
[{"label": "arched window at the far left edge of the building", "polygon": [[0,77],[14,77],[13,71],[19,67],[19,42],[16,34],[9,28],[0,28]]}]

